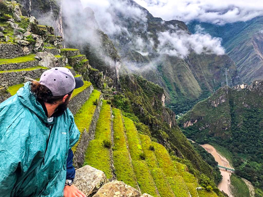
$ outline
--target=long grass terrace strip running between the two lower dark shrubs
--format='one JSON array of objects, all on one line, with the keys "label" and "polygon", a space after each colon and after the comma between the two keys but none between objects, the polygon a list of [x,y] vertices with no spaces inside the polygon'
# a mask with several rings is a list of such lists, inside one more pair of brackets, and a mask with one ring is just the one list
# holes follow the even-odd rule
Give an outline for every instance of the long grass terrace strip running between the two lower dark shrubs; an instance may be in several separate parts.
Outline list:
[{"label": "long grass terrace strip running between the two lower dark shrubs", "polygon": [[129,159],[122,114],[120,110],[113,108],[113,130],[114,130],[114,150],[113,162],[117,180],[123,181],[127,185],[137,188],[137,180]]}]

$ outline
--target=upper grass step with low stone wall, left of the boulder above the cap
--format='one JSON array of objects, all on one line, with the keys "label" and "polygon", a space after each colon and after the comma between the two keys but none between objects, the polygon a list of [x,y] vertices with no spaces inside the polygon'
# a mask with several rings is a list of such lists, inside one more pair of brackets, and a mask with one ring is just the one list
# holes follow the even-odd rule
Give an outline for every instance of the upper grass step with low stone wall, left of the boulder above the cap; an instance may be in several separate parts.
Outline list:
[{"label": "upper grass step with low stone wall, left of the boulder above the cap", "polygon": [[35,54],[30,54],[12,59],[0,59],[0,71],[31,68],[38,65]]}]

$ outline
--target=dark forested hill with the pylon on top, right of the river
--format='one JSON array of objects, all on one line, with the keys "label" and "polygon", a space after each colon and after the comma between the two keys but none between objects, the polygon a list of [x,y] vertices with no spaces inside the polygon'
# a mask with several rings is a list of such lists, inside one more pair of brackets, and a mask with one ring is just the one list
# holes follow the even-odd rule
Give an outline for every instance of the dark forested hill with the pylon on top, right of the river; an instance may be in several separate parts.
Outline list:
[{"label": "dark forested hill with the pylon on top, right of the river", "polygon": [[225,86],[179,119],[186,137],[231,153],[237,175],[263,189],[263,80]]}]

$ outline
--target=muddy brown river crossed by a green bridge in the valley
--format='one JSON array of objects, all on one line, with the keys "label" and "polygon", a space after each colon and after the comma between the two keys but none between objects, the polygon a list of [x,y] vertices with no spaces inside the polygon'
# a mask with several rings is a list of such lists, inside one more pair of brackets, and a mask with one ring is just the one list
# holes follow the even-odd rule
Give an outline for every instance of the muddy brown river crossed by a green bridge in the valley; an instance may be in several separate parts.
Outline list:
[{"label": "muddy brown river crossed by a green bridge in the valley", "polygon": [[[211,146],[210,144],[203,144],[201,145],[207,152],[209,152],[213,157],[215,158],[216,162],[218,162],[219,165],[224,166],[226,168],[232,168],[233,167],[229,164],[227,159],[220,155],[216,149]],[[219,168],[220,169],[220,168]],[[220,172],[222,174],[222,181],[218,184],[218,189],[224,191],[229,197],[234,197],[230,192],[230,176],[232,172],[226,171],[225,169],[220,169]]]}]

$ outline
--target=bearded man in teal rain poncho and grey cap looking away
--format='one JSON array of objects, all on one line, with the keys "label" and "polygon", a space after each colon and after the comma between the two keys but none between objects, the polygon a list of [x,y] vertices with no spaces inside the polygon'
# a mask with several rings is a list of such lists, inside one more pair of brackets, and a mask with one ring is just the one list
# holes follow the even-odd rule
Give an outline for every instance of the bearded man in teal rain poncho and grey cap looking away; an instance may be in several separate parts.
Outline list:
[{"label": "bearded man in teal rain poncho and grey cap looking away", "polygon": [[0,104],[0,196],[85,197],[72,184],[80,133],[67,108],[81,86],[67,68],[52,68]]}]

